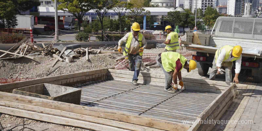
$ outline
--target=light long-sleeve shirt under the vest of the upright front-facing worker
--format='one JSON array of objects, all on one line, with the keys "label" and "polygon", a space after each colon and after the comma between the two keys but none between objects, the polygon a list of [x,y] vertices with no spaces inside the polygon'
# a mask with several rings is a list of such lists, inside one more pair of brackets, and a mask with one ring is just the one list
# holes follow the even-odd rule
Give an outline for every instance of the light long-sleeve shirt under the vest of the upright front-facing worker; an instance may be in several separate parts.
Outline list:
[{"label": "light long-sleeve shirt under the vest of the upright front-facing worker", "polygon": [[[118,41],[118,47],[121,46],[123,42],[127,42],[128,36],[129,36],[129,33],[127,33],[121,40]],[[138,35],[135,38],[138,40]],[[139,54],[138,51],[140,49],[140,43],[137,40],[135,40],[135,38],[132,37],[130,52],[128,52],[129,54],[135,54],[135,53]],[[143,47],[146,48],[147,42],[144,36],[142,37],[141,42],[143,44]]]}]

